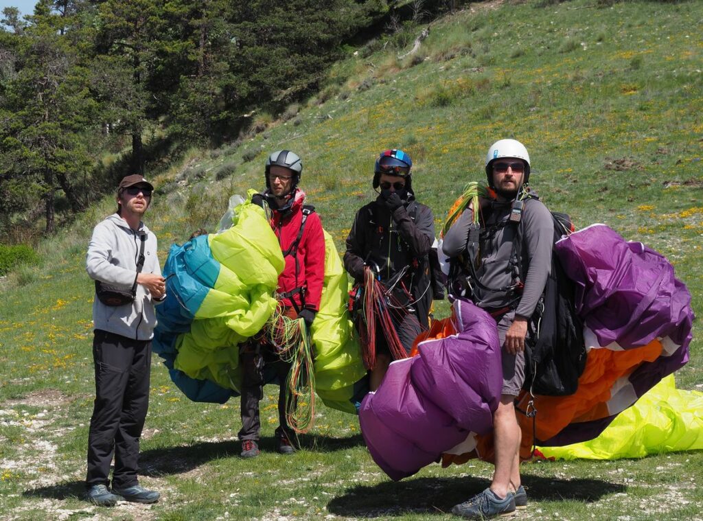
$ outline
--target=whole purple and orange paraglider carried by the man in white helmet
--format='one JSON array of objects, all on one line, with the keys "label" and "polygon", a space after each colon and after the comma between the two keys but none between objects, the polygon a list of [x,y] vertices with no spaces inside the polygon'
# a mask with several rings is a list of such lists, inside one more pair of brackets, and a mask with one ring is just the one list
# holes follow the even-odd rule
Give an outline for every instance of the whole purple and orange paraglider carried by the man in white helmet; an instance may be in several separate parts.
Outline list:
[{"label": "whole purple and orange paraglider carried by the man in white helmet", "polygon": [[[600,435],[686,364],[692,338],[690,292],[663,255],[602,224],[563,238],[555,252],[576,285],[588,355],[576,393],[534,397],[534,422],[518,415],[524,458],[533,441],[559,446]],[[493,457],[491,414],[502,381],[496,323],[460,300],[453,321],[456,335],[421,342],[419,356],[391,364],[361,405],[370,454],[394,480],[440,455],[444,465]],[[520,397],[519,408],[529,398]]]}]

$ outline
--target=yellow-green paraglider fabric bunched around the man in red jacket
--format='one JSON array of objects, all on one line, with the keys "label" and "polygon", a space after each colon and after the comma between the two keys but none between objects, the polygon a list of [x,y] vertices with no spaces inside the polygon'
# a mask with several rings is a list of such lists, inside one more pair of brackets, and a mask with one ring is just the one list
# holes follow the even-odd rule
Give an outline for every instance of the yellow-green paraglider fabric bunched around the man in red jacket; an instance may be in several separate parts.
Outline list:
[{"label": "yellow-green paraglider fabric bunched around the man in red jacket", "polygon": [[[247,201],[233,215],[231,228],[208,236],[219,274],[195,311],[191,330],[176,340],[174,368],[239,392],[239,344],[258,333],[276,309],[273,294],[285,264],[261,207]],[[323,293],[311,331],[316,392],[326,405],[355,413],[349,400],[366,368],[346,310],[347,287],[347,273],[325,231]]]}]

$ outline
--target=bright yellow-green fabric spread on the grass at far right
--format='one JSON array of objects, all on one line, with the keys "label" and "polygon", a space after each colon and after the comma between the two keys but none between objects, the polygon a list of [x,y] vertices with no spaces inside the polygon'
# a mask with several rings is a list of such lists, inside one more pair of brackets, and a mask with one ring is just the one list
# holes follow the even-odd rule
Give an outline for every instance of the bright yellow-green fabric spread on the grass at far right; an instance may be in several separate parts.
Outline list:
[{"label": "bright yellow-green fabric spread on the grass at far right", "polygon": [[562,460],[643,458],[701,449],[703,392],[676,389],[673,375],[619,413],[597,438],[560,447],[538,447],[546,458]]}]

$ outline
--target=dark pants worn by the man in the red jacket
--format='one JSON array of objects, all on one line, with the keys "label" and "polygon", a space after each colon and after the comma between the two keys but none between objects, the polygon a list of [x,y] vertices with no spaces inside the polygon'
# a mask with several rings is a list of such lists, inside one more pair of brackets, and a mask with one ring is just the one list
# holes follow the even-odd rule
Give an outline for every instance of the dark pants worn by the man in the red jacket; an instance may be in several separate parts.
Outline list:
[{"label": "dark pants worn by the man in the red jacket", "polygon": [[265,347],[259,348],[254,342],[248,342],[240,351],[239,360],[242,364],[243,382],[240,397],[242,429],[238,433],[241,440],[253,439],[259,441],[261,420],[259,420],[259,401],[264,397],[264,365],[271,366],[280,382],[278,391],[278,428],[276,434],[285,434],[288,439],[294,439],[294,431],[285,420],[286,409],[286,379],[290,371],[290,363],[284,362],[273,353],[262,354]]}]

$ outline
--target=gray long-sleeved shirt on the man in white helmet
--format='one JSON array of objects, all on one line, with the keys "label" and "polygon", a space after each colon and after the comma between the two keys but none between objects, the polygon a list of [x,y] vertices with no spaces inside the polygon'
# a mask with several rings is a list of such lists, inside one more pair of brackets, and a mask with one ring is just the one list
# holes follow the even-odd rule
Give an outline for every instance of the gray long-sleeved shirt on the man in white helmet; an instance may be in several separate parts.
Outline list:
[{"label": "gray long-sleeved shirt on the man in white helmet", "polygon": [[[488,288],[503,288],[512,284],[510,257],[512,243],[520,226],[520,233],[522,233],[520,272],[524,276],[524,288],[515,314],[529,317],[534,313],[550,274],[554,224],[547,207],[536,199],[525,201],[522,218],[517,226],[507,222],[510,218],[510,210],[510,202],[492,201],[490,203],[490,209],[486,212],[488,215],[486,222],[481,223],[482,228],[487,232],[482,233],[479,247],[480,262],[476,275],[479,282]],[[461,214],[444,236],[442,251],[445,255],[456,257],[465,252],[471,222],[472,210],[468,209]],[[482,308],[499,308],[514,301],[515,295],[475,287],[473,300]]]}]

